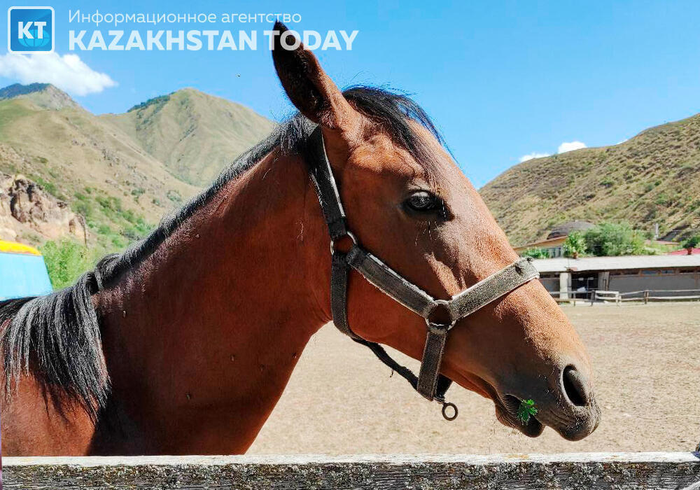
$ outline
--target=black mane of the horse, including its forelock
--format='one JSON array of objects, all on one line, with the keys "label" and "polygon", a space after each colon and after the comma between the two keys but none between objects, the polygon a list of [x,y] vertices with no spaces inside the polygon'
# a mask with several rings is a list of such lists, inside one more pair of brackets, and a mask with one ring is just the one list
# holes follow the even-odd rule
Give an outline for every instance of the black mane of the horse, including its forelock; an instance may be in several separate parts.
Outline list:
[{"label": "black mane of the horse, including its forelock", "polygon": [[[416,102],[406,94],[375,87],[351,87],[343,94],[360,113],[388,132],[395,144],[409,151],[416,161],[430,165],[432,159],[409,121],[414,120],[440,143],[443,141]],[[23,374],[31,374],[57,406],[77,402],[96,420],[109,398],[110,382],[102,352],[99,312],[92,295],[118,283],[122,274],[152,255],[226,183],[251,169],[275,147],[279,146],[283,155],[308,158],[307,141],[313,129],[314,124],[295,114],[240,155],[209,188],[165,216],[148,237],[123,253],[107,255],[73,286],[45,296],[0,302],[5,396],[10,397]]]}]

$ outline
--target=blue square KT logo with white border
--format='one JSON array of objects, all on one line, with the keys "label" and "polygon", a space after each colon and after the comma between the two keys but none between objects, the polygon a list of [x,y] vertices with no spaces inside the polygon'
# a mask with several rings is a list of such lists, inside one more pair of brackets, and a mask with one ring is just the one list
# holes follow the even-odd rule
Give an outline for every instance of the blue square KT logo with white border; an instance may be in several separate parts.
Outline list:
[{"label": "blue square KT logo with white border", "polygon": [[52,7],[10,7],[7,10],[10,52],[52,52],[54,13]]}]

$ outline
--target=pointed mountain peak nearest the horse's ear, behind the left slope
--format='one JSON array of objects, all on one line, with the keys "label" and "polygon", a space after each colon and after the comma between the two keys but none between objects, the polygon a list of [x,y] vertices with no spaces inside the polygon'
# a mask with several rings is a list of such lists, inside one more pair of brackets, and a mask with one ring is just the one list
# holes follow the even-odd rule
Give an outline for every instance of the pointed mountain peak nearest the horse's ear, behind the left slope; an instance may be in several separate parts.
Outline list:
[{"label": "pointed mountain peak nearest the horse's ear, behind the left slope", "polygon": [[193,88],[101,116],[138,141],[179,179],[205,186],[274,124],[251,109]]}]

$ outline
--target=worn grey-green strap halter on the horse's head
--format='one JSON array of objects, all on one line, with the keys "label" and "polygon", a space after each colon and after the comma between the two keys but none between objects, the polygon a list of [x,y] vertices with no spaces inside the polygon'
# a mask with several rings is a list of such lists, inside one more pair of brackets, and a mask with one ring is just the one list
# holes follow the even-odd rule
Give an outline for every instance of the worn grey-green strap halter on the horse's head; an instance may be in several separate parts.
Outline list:
[{"label": "worn grey-green strap halter on the horse's head", "polygon": [[[442,354],[447,343],[447,332],[454,327],[459,319],[469,316],[486,304],[507,295],[522,284],[538,278],[540,274],[529,258],[523,258],[454,295],[449,300],[435,300],[358,244],[356,237],[347,228],[345,211],[340,201],[328,155],[325,153],[320,126],[317,126],[311,133],[309,144],[311,179],[316,186],[318,201],[321,203],[323,217],[328,224],[328,232],[330,233],[332,255],[330,307],[333,323],[338,330],[351,337],[355,342],[372,349],[382,363],[398,372],[423,397],[442,403],[442,415],[445,419],[455,419],[457,408],[454,404],[444,400],[444,394],[452,381],[440,374]],[[335,247],[335,244],[342,239],[352,241],[349,251],[340,251]],[[423,349],[421,369],[417,377],[407,367],[393,360],[381,345],[363,339],[350,328],[347,318],[347,285],[350,268],[359,272],[382,293],[425,319],[428,333]],[[444,316],[449,316],[449,323],[438,323],[433,319],[440,310]],[[447,407],[454,409],[454,415],[447,415],[445,410]]]}]

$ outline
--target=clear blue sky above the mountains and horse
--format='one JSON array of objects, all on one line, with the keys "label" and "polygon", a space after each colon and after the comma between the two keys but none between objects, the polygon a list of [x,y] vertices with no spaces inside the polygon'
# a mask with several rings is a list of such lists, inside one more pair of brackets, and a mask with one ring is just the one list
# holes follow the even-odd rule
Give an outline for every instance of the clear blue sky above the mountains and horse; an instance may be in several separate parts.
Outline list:
[{"label": "clear blue sky above the mountains and horse", "polygon": [[[414,94],[477,187],[528,154],[563,143],[617,144],[640,130],[700,112],[697,1],[53,1],[59,55],[69,9],[92,13],[299,13],[297,30],[358,29],[353,49],[316,51],[341,86],[388,85]],[[3,32],[6,15],[0,15]],[[102,26],[106,32],[109,27]],[[133,25],[121,28],[132,29]],[[201,29],[199,25],[144,27]],[[255,29],[265,23],[218,25]],[[0,41],[4,44],[4,38]],[[0,50],[0,85],[28,80]],[[258,50],[76,51],[116,86],[77,95],[95,113],[121,112],[181,87],[250,106],[279,120],[290,112],[272,61]],[[4,64],[3,64],[4,63]],[[89,67],[89,68],[87,68]],[[49,66],[44,73],[58,70]],[[41,73],[34,75],[42,78]],[[66,82],[69,83],[69,82]],[[97,82],[99,85],[99,81]],[[109,85],[103,83],[102,85]],[[64,87],[66,88],[66,87]],[[70,91],[70,90],[69,90]],[[84,92],[85,90],[83,90]],[[575,147],[575,145],[574,145]]]}]

